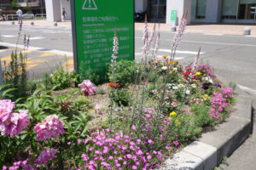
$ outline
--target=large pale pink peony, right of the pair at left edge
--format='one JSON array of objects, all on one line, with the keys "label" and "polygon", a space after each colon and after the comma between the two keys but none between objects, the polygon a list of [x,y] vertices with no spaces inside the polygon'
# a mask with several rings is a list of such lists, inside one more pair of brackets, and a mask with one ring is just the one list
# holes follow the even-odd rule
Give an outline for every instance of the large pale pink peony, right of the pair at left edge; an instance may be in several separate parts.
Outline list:
[{"label": "large pale pink peony, right of the pair at left edge", "polygon": [[47,116],[43,122],[39,122],[34,131],[37,133],[37,140],[43,141],[51,138],[58,138],[60,133],[64,133],[64,123],[58,116]]}]

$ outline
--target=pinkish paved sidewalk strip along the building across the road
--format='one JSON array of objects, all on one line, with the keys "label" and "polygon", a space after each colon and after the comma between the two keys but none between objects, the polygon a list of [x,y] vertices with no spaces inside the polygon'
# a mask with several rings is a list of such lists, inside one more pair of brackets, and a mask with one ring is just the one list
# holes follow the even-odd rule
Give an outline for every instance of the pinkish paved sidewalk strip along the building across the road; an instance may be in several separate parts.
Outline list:
[{"label": "pinkish paved sidewalk strip along the building across the road", "polygon": [[[30,26],[31,22],[34,22],[34,26],[52,26],[54,27],[54,22],[49,22],[47,20],[24,20],[23,24]],[[1,25],[11,25],[12,21],[0,21]],[[17,25],[17,21],[15,21]],[[57,22],[58,26],[71,27],[71,21]],[[135,23],[135,29],[137,31],[143,31],[144,23]],[[152,29],[154,23],[148,23],[148,28]],[[191,25],[187,26],[185,32],[190,33],[203,33],[203,34],[230,34],[230,35],[242,35],[243,28],[250,27],[251,35],[256,36],[256,26],[254,25]],[[160,24],[160,31],[171,31],[171,26],[164,23]]]}]

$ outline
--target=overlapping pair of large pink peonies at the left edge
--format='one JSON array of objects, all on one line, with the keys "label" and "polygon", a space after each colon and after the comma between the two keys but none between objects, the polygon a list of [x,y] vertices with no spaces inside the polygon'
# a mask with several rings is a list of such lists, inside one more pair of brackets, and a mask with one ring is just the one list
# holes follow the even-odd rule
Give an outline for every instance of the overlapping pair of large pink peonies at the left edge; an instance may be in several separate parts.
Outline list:
[{"label": "overlapping pair of large pink peonies at the left edge", "polygon": [[9,99],[0,100],[0,131],[3,136],[14,138],[29,124],[27,111],[12,113],[15,103]]}]

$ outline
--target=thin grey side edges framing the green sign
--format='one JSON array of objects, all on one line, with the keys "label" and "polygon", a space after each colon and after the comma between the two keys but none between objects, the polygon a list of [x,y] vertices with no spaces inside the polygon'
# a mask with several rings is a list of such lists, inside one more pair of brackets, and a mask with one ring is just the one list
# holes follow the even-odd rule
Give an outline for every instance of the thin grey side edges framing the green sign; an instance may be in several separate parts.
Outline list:
[{"label": "thin grey side edges framing the green sign", "polygon": [[[71,7],[71,20],[72,20],[72,37],[73,37],[73,65],[74,65],[74,70],[79,74],[79,58],[78,58],[78,40],[77,40],[77,20],[76,20],[76,14],[75,14],[75,0],[70,0],[70,7]],[[78,1],[78,0],[76,0]],[[128,1],[128,0],[127,0]],[[132,35],[132,59],[135,60],[135,19],[134,19],[134,14],[135,14],[135,0],[129,0],[132,1],[133,3],[133,8],[132,10],[132,28],[133,28],[133,35]],[[114,32],[113,32],[114,33]],[[119,37],[118,37],[119,38]],[[113,44],[113,43],[111,43]],[[119,56],[119,54],[118,54]]]}]

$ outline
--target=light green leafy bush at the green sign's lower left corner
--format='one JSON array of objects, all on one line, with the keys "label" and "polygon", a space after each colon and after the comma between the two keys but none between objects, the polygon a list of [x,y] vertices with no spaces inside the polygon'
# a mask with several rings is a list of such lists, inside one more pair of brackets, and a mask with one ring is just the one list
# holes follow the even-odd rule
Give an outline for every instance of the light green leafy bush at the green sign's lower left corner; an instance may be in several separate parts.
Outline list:
[{"label": "light green leafy bush at the green sign's lower left corner", "polygon": [[49,81],[54,86],[55,90],[69,88],[73,83],[77,82],[78,75],[75,72],[67,72],[62,68],[57,69],[50,75]]}]

